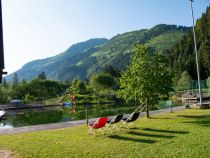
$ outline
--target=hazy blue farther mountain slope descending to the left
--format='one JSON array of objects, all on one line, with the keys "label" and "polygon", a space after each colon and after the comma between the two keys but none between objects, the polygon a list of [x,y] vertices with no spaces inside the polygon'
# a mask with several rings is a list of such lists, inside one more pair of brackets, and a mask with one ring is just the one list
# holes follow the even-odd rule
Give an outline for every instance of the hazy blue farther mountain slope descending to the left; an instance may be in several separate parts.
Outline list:
[{"label": "hazy blue farther mountain slope descending to the left", "polygon": [[[56,56],[31,61],[15,73],[18,74],[19,80],[32,80],[37,78],[38,74],[41,72],[45,72],[48,79],[62,80],[62,73],[60,72],[63,71],[64,68],[68,67],[71,71],[79,60],[84,60],[92,51],[97,50],[97,46],[107,41],[108,40],[105,38],[96,38],[74,44],[65,52]],[[68,70],[66,73],[68,74]],[[6,76],[6,79],[12,80],[13,76],[14,73]]]}]

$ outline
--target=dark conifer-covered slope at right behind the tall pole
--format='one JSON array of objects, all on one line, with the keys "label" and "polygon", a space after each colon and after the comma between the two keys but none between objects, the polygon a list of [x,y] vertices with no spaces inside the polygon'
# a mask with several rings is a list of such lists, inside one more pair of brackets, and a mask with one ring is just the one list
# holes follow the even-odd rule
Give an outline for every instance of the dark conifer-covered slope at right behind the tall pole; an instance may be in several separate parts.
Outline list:
[{"label": "dark conifer-covered slope at right behind the tall pole", "polygon": [[[196,22],[197,50],[199,54],[200,77],[202,80],[210,76],[210,6],[206,13]],[[168,59],[176,80],[187,71],[192,79],[197,80],[197,68],[194,52],[192,30],[167,51]]]}]

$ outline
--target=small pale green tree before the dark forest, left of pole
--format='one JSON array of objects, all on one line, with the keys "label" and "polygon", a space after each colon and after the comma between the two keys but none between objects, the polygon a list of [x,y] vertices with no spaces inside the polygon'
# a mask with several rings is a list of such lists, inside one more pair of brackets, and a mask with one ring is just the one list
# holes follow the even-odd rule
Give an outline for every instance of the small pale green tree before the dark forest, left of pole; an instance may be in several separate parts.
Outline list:
[{"label": "small pale green tree before the dark forest, left of pole", "polygon": [[191,89],[191,81],[191,76],[188,74],[187,71],[184,71],[181,74],[181,78],[178,81],[176,89],[180,91]]}]

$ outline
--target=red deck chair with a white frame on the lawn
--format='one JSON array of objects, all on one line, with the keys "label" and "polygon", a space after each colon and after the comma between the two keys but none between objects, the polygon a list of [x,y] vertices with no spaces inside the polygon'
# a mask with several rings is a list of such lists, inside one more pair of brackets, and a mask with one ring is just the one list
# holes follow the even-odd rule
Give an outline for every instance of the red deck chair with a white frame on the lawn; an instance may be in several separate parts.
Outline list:
[{"label": "red deck chair with a white frame on the lawn", "polygon": [[97,132],[103,132],[101,128],[105,127],[106,123],[108,121],[107,117],[99,117],[98,120],[95,123],[90,123],[89,126],[89,131],[87,134],[93,134],[95,136],[94,129],[98,129]]}]

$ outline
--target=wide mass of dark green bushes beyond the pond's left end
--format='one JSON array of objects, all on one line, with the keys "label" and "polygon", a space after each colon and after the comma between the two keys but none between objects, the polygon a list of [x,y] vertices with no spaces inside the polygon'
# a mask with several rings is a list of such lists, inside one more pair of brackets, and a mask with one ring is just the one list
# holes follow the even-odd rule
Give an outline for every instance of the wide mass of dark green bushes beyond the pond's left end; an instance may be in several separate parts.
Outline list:
[{"label": "wide mass of dark green bushes beyond the pond's left end", "polygon": [[35,79],[29,83],[22,80],[19,84],[12,84],[6,89],[9,93],[8,100],[21,99],[25,103],[29,103],[60,96],[64,93],[66,86],[58,81]]}]

